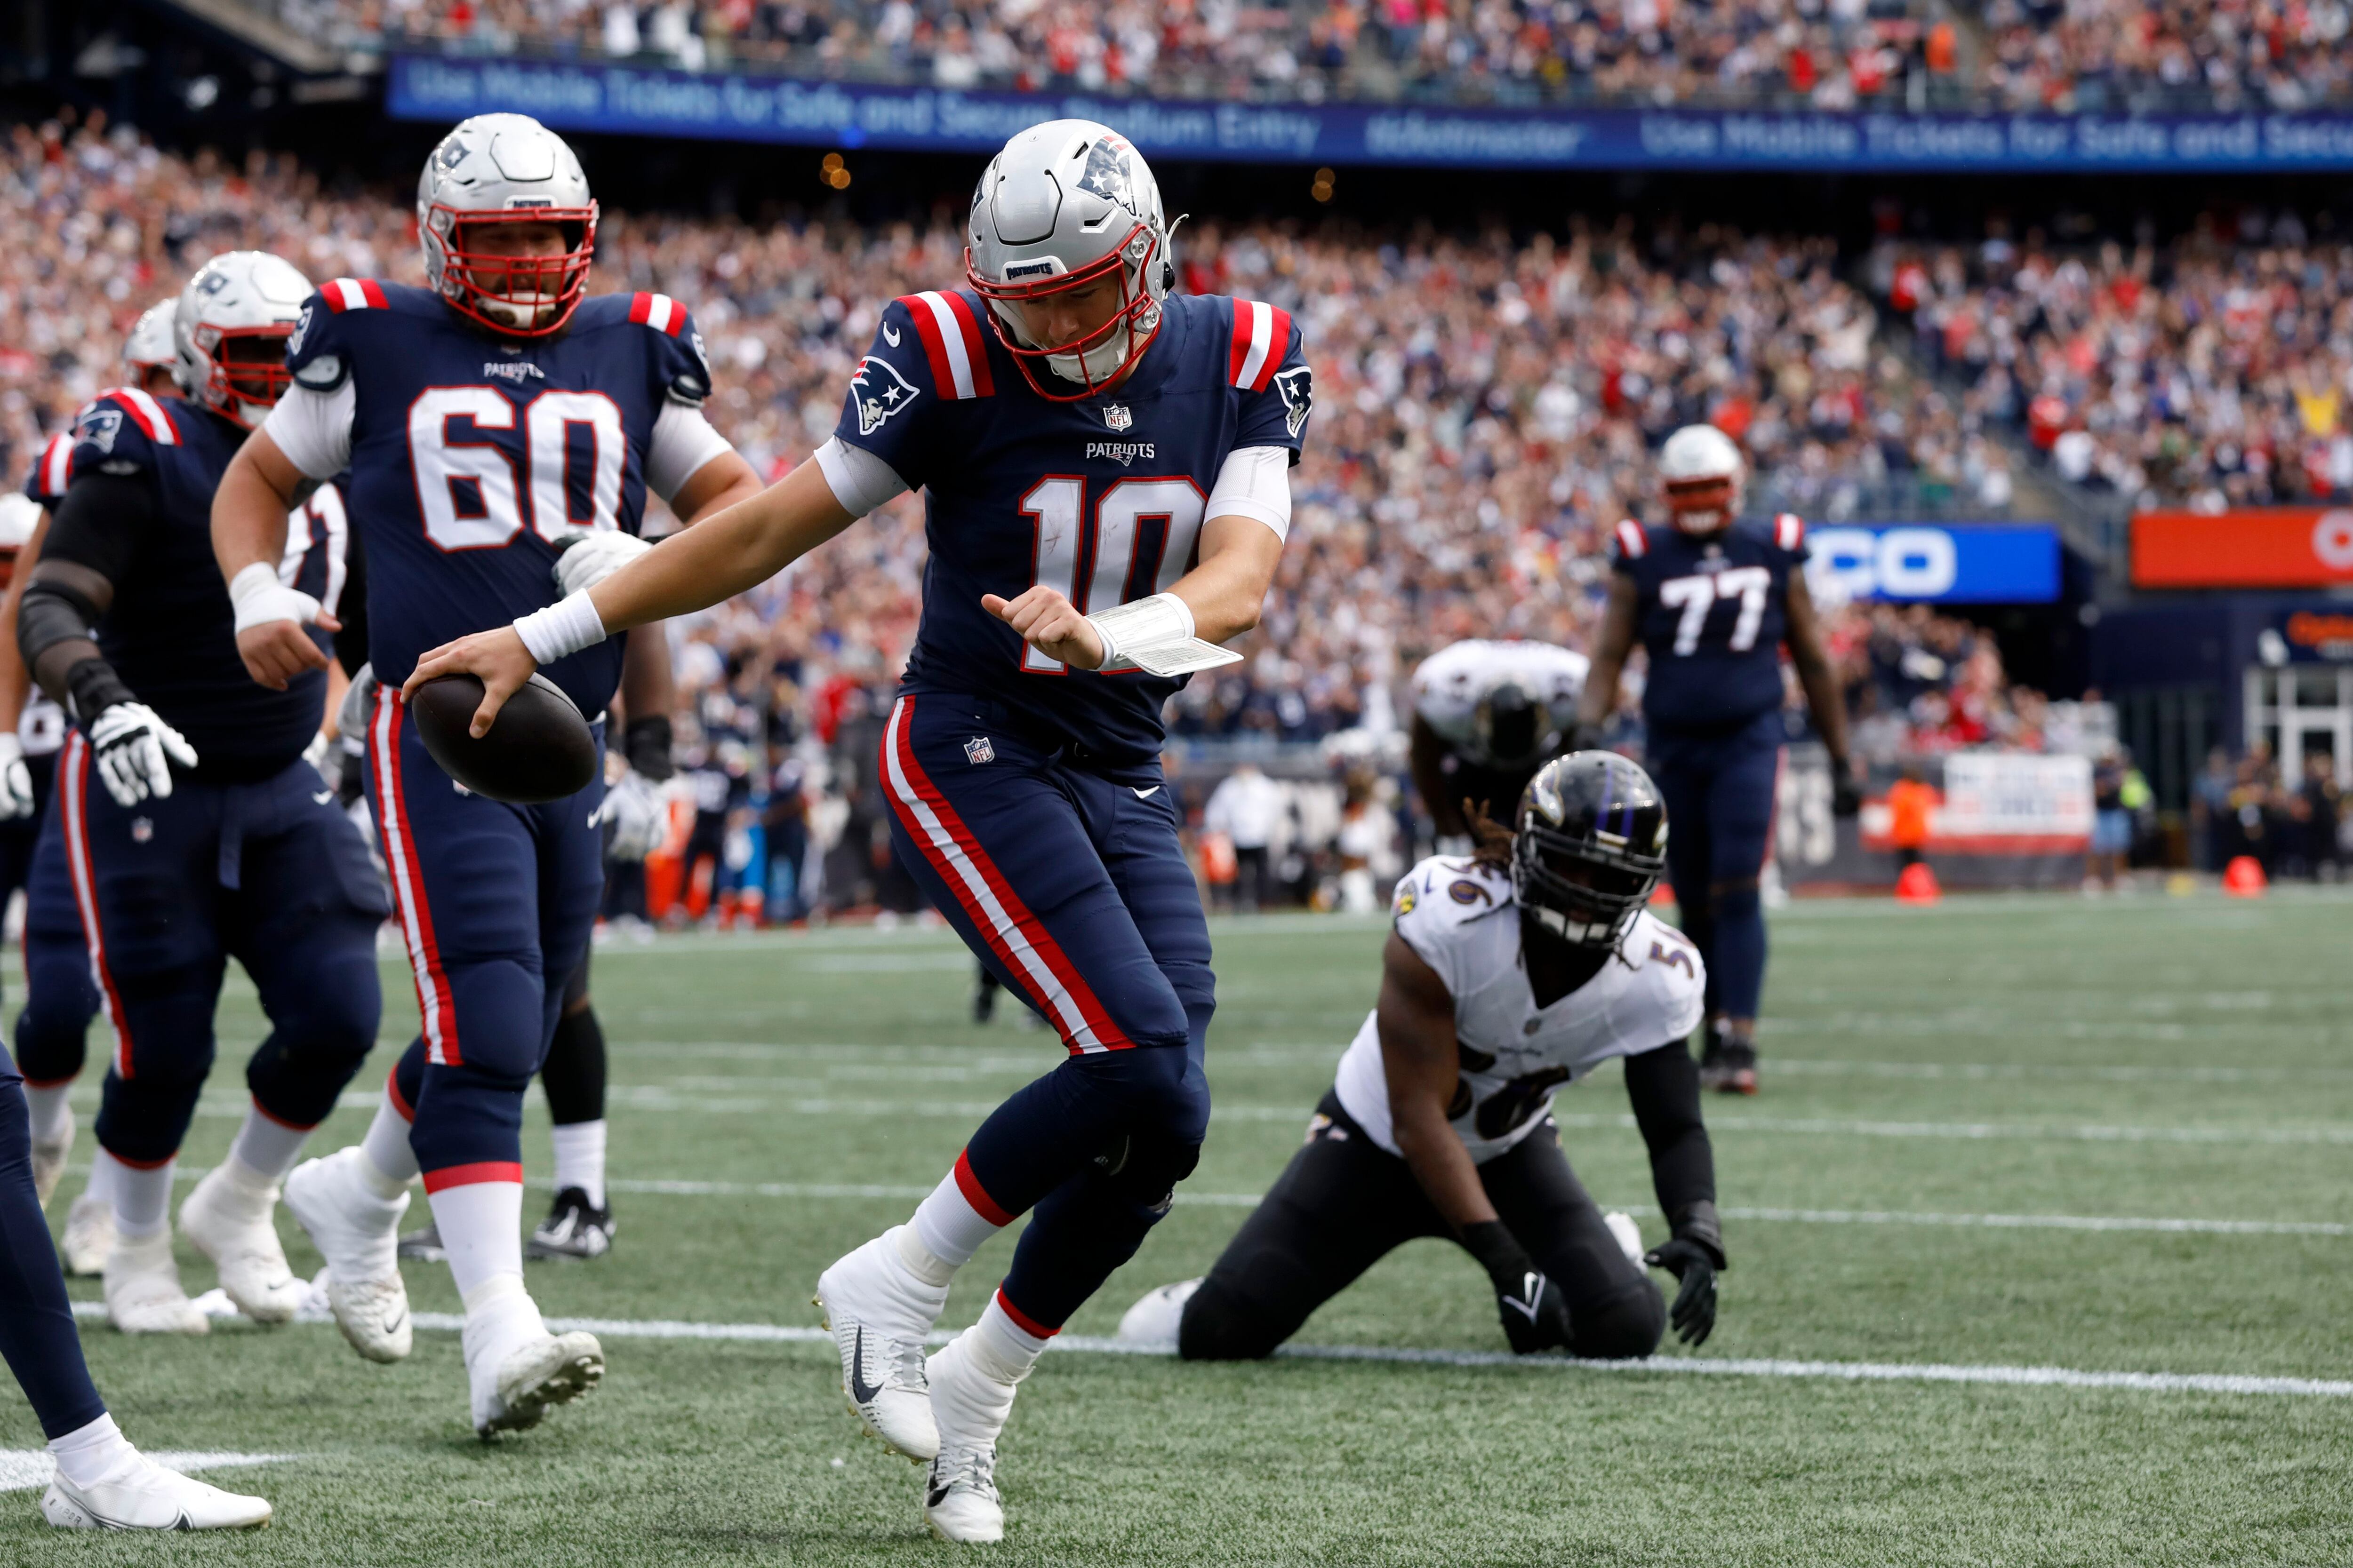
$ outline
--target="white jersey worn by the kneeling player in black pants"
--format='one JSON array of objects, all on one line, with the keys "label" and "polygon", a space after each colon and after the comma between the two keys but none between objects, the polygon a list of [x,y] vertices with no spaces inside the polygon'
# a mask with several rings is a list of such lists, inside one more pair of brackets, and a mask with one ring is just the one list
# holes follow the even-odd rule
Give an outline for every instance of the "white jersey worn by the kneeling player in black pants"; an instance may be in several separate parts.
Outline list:
[{"label": "white jersey worn by the kneeling player in black pants", "polygon": [[[1461,1084],[1447,1119],[1485,1164],[1527,1138],[1553,1093],[1617,1056],[1680,1044],[1699,1027],[1706,971],[1699,952],[1649,910],[1633,917],[1617,957],[1553,1006],[1537,1006],[1520,957],[1520,905],[1511,877],[1478,860],[1433,856],[1398,884],[1398,936],[1454,997]],[[1365,1016],[1332,1084],[1377,1145],[1398,1152],[1381,1070],[1379,1011]]]}]

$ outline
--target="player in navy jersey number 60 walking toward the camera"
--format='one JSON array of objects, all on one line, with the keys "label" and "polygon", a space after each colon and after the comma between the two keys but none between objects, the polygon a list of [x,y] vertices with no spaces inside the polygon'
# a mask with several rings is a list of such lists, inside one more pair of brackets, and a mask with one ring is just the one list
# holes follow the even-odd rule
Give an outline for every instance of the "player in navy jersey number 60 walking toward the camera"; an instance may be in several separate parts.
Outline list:
[{"label": "player in navy jersey number 60 walking toward the camera", "polygon": [[[351,468],[367,552],[367,646],[384,682],[367,776],[424,1034],[362,1145],[315,1159],[287,1206],[327,1258],[353,1349],[409,1352],[395,1246],[424,1175],[466,1300],[473,1429],[532,1427],[595,1387],[595,1335],[551,1335],[522,1284],[522,1091],[555,1032],[605,891],[602,769],[579,795],[506,806],[454,788],[407,722],[416,656],[586,590],[631,555],[652,489],[682,522],[758,494],[711,428],[701,336],[664,294],[588,299],[595,200],[579,158],[527,115],[475,115],[416,183],[424,289],[339,277],[287,341],[294,386],[214,503],[221,571],[254,583],[238,649],[264,686],[325,663],[306,607],[264,602],[285,503]],[[560,555],[560,559],[558,559]],[[602,731],[621,642],[548,677]],[[602,745],[602,741],[600,741]]]}]

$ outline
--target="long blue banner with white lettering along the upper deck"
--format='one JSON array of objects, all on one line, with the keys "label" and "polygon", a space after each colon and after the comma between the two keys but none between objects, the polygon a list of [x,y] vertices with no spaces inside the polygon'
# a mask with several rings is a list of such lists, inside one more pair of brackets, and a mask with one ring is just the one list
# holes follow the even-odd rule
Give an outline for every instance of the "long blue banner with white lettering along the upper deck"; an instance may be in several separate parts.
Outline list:
[{"label": "long blue banner with white lettering along the upper deck", "polygon": [[2353,115],[1889,115],[1685,108],[1195,103],[696,75],[395,54],[386,108],[452,122],[520,110],[565,132],[993,153],[1040,120],[1118,127],[1151,155],[1497,169],[2329,172]]}]

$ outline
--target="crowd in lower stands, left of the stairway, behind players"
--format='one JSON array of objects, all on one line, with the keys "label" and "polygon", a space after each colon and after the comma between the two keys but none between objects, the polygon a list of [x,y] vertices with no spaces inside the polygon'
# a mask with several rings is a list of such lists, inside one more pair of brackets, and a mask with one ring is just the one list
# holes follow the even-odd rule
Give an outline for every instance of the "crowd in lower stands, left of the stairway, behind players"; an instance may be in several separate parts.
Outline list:
[{"label": "crowd in lower stands, left of the stairway, behind players", "polygon": [[[287,158],[181,160],[99,118],[16,127],[0,214],[24,235],[0,254],[9,473],[115,381],[122,331],[212,252],[275,249],[318,280],[419,280],[398,197],[332,195]],[[1304,322],[1318,416],[1252,656],[1184,691],[1172,729],[1209,748],[1393,733],[1405,675],[1447,642],[1586,644],[1602,529],[1647,510],[1649,447],[1694,418],[1746,442],[1755,505],[1835,517],[1892,480],[2007,498],[1998,447],[1875,350],[1878,310],[1833,263],[1821,240],[1720,228],[1572,226],[1527,242],[1188,228],[1181,287],[1268,299]],[[607,212],[595,287],[692,301],[715,367],[711,414],[774,477],[831,433],[880,303],[958,268],[936,223]],[[901,498],[675,628],[694,797],[682,816],[718,891],[734,863],[772,907],[793,907],[802,870],[746,870],[800,867],[767,851],[786,842],[847,853],[835,879],[889,877],[866,731],[913,642],[922,555],[920,505]],[[1854,609],[1842,628],[1852,679],[1906,733],[2031,743],[2033,715],[2005,693],[1991,642],[1962,646],[1965,628],[1892,611]],[[1922,675],[1929,658],[1941,675]]]}]

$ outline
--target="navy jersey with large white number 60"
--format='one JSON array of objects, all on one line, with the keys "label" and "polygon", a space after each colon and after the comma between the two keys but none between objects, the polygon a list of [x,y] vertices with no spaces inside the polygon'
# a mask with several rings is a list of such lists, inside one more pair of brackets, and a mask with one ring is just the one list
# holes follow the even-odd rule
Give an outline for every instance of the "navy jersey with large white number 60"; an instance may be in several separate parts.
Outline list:
[{"label": "navy jersey with large white number 60", "polygon": [[[348,505],[386,684],[428,649],[553,604],[558,541],[638,534],[654,421],[711,393],[701,339],[664,294],[600,294],[551,339],[501,339],[426,289],[339,277],[304,303],[287,367],[296,395],[351,390]],[[546,675],[593,719],[621,649],[609,637]]]}]

